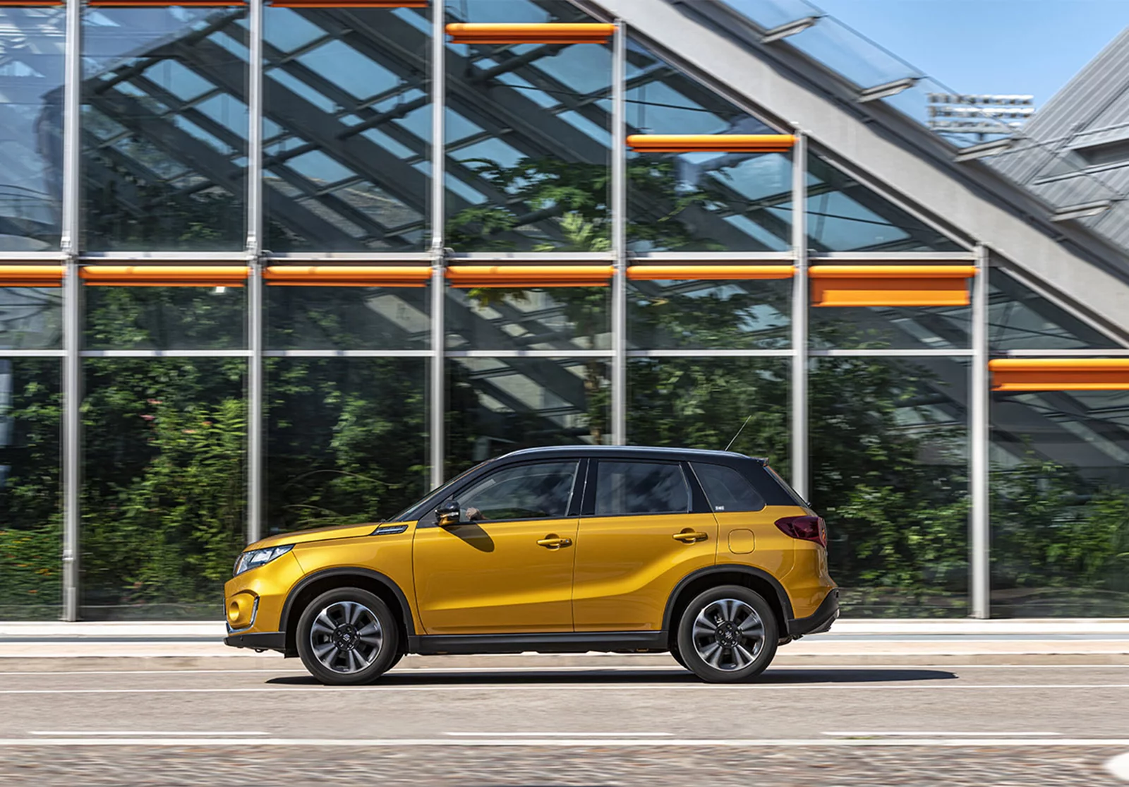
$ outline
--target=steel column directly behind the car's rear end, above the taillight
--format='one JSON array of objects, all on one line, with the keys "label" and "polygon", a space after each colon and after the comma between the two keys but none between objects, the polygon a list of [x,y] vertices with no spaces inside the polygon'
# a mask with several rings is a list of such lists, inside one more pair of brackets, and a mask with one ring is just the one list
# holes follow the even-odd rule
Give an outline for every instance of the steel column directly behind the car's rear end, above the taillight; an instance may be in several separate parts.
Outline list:
[{"label": "steel column directly behind the car's rear end, above the taillight", "polygon": [[808,499],[807,464],[807,138],[791,149],[791,486]]}]

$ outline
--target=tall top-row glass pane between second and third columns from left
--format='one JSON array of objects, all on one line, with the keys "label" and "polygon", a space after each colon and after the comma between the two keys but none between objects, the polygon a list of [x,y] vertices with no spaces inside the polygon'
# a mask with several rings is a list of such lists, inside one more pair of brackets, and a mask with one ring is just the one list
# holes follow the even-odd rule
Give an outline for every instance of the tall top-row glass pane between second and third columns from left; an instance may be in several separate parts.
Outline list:
[{"label": "tall top-row glass pane between second and third columns from left", "polygon": [[270,250],[426,247],[427,16],[406,8],[263,10]]}]

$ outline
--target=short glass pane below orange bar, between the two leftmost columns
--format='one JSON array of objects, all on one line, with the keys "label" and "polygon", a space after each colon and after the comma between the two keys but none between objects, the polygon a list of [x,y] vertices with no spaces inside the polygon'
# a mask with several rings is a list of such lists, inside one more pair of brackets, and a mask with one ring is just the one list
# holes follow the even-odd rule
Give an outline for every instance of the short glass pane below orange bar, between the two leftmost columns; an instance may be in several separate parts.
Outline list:
[{"label": "short glass pane below orange bar, between the two leftmost columns", "polygon": [[84,287],[88,350],[247,347],[244,287]]}]

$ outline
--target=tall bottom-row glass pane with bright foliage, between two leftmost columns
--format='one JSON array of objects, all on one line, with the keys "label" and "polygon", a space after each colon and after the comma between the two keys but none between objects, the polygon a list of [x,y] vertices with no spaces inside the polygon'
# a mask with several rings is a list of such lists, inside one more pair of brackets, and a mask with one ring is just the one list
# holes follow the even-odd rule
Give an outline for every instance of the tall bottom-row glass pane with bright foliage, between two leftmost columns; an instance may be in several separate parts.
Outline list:
[{"label": "tall bottom-row glass pane with bright foliage, between two leftmost columns", "polygon": [[245,544],[242,358],[84,360],[81,617],[216,618]]}]

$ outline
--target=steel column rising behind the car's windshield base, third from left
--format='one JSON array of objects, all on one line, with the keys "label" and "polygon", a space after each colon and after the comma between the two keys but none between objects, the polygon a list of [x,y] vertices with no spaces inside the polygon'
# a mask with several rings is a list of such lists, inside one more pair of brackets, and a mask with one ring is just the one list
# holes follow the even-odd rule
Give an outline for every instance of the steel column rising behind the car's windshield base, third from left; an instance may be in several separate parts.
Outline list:
[{"label": "steel column rising behind the car's windshield base, third from left", "polygon": [[447,30],[443,3],[431,3],[431,486],[444,481],[446,367],[444,364],[444,305],[446,280],[444,269],[445,172],[447,106]]}]

